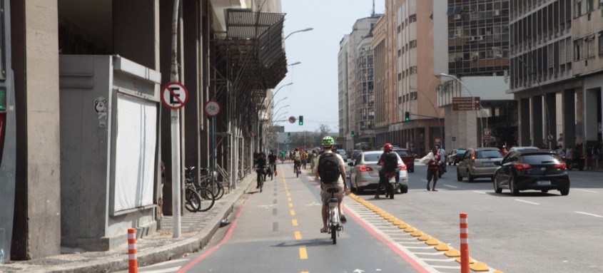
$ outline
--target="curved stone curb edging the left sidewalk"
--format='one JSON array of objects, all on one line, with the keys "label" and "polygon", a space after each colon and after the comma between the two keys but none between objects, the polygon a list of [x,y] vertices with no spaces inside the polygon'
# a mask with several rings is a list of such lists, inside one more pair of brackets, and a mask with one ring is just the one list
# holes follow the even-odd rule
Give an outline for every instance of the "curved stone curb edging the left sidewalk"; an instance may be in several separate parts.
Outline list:
[{"label": "curved stone curb edging the left sidewalk", "polygon": [[[253,181],[253,174],[243,179],[237,185],[237,188],[233,190],[230,200],[227,204],[221,207],[217,215],[203,227],[202,230],[197,232],[190,238],[183,239],[178,242],[166,244],[162,247],[154,247],[152,249],[145,249],[138,252],[138,267],[145,267],[151,264],[157,264],[160,262],[166,262],[171,259],[181,258],[184,254],[197,252],[200,249],[206,247],[211,237],[216,234],[220,228],[221,221],[228,217],[233,212],[234,204],[240,197],[245,193],[250,182]],[[116,272],[128,270],[128,255],[120,254],[118,257],[109,257],[107,259],[101,259],[95,262],[89,262],[86,264],[81,263],[70,263],[61,264],[58,267],[46,268],[43,271],[34,272],[49,272],[49,273],[78,273],[78,272]]]}]

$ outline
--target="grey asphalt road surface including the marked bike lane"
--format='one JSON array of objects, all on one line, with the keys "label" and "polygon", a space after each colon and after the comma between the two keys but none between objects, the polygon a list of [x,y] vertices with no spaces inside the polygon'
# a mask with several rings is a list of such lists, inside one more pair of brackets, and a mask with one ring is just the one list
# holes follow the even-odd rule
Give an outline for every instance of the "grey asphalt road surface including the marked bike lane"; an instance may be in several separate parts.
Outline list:
[{"label": "grey asphalt road surface including the marked bike lane", "polygon": [[[459,264],[346,197],[348,223],[338,244],[318,232],[318,188],[279,165],[274,182],[238,204],[240,214],[202,252],[140,272],[459,272]],[[454,166],[425,190],[425,166],[410,173],[409,192],[395,200],[360,198],[459,249],[459,214],[469,217],[470,255],[490,272],[603,272],[603,172],[570,172],[568,196],[508,190],[492,182],[456,180]],[[247,198],[248,197],[248,198]],[[295,212],[292,215],[291,211]],[[293,221],[295,220],[295,222]]]}]

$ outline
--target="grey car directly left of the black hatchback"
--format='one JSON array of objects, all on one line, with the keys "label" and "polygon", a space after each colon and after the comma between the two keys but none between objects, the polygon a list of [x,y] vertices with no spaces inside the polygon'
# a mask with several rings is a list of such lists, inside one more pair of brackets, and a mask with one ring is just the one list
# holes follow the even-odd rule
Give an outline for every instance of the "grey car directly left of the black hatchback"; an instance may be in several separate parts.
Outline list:
[{"label": "grey car directly left of the black hatchback", "polygon": [[492,179],[497,169],[495,163],[502,160],[502,154],[497,148],[469,148],[465,151],[457,165],[457,180],[467,177],[473,182],[478,177]]}]

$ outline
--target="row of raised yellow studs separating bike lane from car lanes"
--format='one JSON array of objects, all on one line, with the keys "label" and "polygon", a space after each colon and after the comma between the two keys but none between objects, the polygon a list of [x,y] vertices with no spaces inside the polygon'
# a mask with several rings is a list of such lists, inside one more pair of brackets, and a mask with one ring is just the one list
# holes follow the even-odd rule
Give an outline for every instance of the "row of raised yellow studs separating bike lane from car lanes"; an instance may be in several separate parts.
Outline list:
[{"label": "row of raised yellow studs separating bike lane from car lanes", "polygon": [[[375,214],[383,217],[383,219],[387,220],[387,222],[392,223],[392,225],[397,226],[398,228],[400,228],[400,230],[404,230],[404,232],[410,233],[410,235],[412,235],[412,237],[417,237],[418,240],[425,242],[425,244],[434,246],[434,248],[437,251],[444,252],[444,254],[447,257],[457,258],[456,261],[460,263],[460,252],[457,249],[449,247],[448,244],[446,244],[444,242],[440,242],[440,240],[435,239],[434,237],[431,237],[430,235],[427,235],[427,234],[421,232],[420,230],[417,230],[415,227],[411,227],[404,221],[397,219],[395,216],[390,215],[389,213],[385,212],[385,210],[381,210],[379,207],[371,204],[367,200],[364,200],[363,198],[360,198],[353,193],[350,193],[348,195],[348,197],[352,198],[356,202],[365,206],[366,208],[368,208],[368,210],[371,210],[371,211],[375,212]],[[471,270],[473,270],[475,272],[490,271],[490,268],[484,262],[477,262],[474,259],[472,259],[471,257],[469,257],[469,259],[470,259]],[[496,271],[495,273],[503,273],[503,272]]]}]

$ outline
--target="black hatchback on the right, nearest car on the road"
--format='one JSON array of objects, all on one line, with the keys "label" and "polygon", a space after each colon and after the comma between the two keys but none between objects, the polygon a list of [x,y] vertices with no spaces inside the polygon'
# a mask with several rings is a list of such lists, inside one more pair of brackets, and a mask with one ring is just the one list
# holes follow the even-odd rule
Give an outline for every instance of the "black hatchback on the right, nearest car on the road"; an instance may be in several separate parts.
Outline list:
[{"label": "black hatchback on the right, nearest car on the road", "polygon": [[569,194],[569,175],[562,158],[554,151],[512,151],[500,163],[494,174],[494,191],[511,190],[518,195],[520,190],[559,190]]}]

